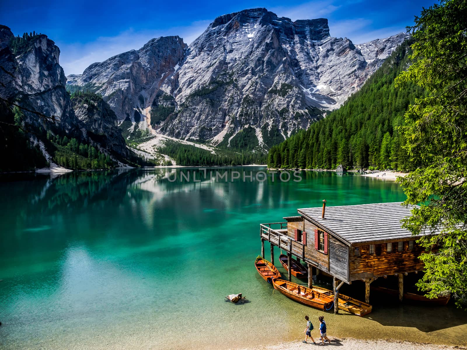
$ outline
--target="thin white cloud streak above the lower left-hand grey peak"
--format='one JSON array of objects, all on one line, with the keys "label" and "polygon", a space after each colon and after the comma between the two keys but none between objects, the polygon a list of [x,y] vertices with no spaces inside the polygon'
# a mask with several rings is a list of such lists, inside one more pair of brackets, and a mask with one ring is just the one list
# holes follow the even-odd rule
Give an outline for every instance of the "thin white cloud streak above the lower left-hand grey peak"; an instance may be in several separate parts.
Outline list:
[{"label": "thin white cloud streak above the lower left-hand grey peak", "polygon": [[85,44],[57,42],[60,48],[60,65],[65,75],[81,74],[91,63],[102,62],[107,58],[132,49],[140,49],[146,42],[159,36],[178,35],[190,44],[201,35],[211,21],[196,21],[186,27],[164,30],[134,31],[128,29],[116,36],[101,36]]}]

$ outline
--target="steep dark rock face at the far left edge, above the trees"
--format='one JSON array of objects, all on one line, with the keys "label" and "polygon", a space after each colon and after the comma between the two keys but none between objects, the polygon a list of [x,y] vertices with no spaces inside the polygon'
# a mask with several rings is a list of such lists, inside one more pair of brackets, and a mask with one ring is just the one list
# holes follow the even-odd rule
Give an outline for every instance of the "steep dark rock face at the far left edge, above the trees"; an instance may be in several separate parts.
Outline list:
[{"label": "steep dark rock face at the far left edge, above the trees", "polygon": [[13,33],[0,28],[0,96],[16,100],[19,105],[37,111],[24,113],[28,125],[65,133],[78,133],[78,120],[65,90],[66,78],[58,63],[60,49],[47,35],[35,35],[22,41],[14,54],[9,43]]}]

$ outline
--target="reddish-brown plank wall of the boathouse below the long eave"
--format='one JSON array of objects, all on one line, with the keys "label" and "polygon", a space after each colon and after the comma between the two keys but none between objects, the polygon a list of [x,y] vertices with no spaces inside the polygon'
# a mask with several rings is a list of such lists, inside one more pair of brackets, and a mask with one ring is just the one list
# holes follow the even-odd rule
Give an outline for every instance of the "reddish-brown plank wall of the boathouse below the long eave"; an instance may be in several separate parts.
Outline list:
[{"label": "reddish-brown plank wall of the boathouse below the long eave", "polygon": [[[409,240],[414,241],[412,251],[409,251]],[[360,256],[354,256],[354,246],[360,247]],[[408,239],[403,241],[403,251],[397,252],[397,242],[393,243],[392,252],[387,252],[386,243],[375,245],[375,254],[369,254],[369,244],[353,245],[349,250],[349,278],[360,280],[394,273],[404,273],[423,270],[424,264],[418,256],[423,249]]]}]

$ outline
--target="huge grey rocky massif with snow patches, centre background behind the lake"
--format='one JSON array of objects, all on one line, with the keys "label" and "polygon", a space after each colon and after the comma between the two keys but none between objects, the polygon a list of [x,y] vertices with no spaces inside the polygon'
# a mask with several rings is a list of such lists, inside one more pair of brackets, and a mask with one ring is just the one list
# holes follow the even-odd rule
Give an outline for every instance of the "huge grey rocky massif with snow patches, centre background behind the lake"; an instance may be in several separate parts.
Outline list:
[{"label": "huge grey rocky massif with snow patches, centre background behind the lake", "polygon": [[338,108],[406,37],[354,45],[324,18],[256,8],[219,16],[188,47],[152,39],[68,84],[102,94],[133,128],[223,146],[241,135],[268,148]]}]

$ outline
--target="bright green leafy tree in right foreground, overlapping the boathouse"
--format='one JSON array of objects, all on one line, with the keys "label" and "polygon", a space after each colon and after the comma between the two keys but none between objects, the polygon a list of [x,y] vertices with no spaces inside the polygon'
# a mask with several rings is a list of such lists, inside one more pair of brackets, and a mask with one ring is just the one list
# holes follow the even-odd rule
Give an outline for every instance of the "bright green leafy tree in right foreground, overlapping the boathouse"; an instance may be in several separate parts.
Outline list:
[{"label": "bright green leafy tree in right foreground, overlapping the boathouse", "polygon": [[[420,204],[403,226],[425,248],[425,275],[417,286],[428,296],[453,293],[467,305],[467,1],[441,1],[424,9],[411,27],[413,64],[396,79],[431,93],[417,98],[401,127],[403,148],[422,167],[401,182],[405,204]],[[430,233],[430,235],[423,235]]]}]

